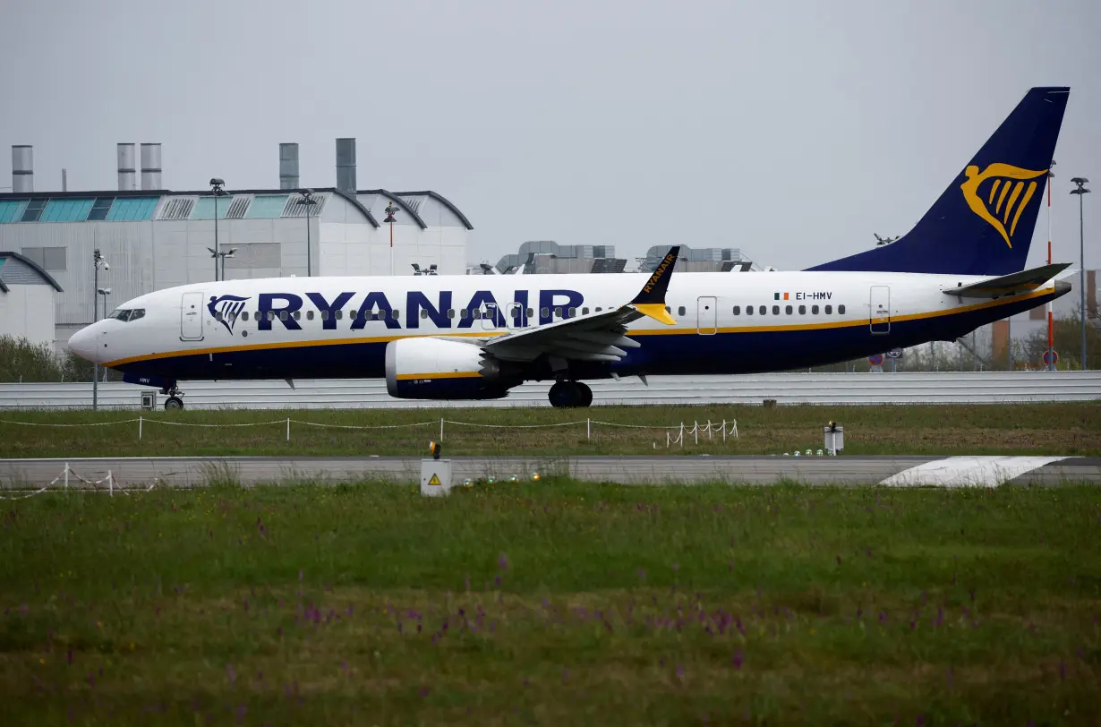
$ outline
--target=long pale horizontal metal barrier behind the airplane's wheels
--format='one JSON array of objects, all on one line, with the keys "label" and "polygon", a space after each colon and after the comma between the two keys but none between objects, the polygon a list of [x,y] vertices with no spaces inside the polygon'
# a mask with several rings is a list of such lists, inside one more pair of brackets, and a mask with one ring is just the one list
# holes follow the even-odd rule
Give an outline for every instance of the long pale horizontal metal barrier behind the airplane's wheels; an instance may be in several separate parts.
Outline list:
[{"label": "long pale horizontal metal barrier behind the airplane's wheels", "polygon": [[[648,377],[589,382],[601,404],[928,404],[1101,401],[1101,371],[939,371]],[[188,409],[439,409],[547,406],[549,382],[525,383],[490,401],[393,399],[381,379],[189,381]],[[149,387],[99,384],[101,409],[141,409]],[[157,392],[156,406],[164,403]],[[91,382],[0,383],[0,409],[91,409]]]}]

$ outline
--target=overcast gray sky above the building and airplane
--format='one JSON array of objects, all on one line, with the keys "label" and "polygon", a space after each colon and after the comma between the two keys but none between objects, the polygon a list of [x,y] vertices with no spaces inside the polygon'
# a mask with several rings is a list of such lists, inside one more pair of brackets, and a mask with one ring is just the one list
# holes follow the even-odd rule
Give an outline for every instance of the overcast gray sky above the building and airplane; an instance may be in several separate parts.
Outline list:
[{"label": "overcast gray sky above the building and airplane", "polygon": [[302,183],[330,186],[334,139],[356,137],[360,188],[448,197],[471,262],[554,239],[798,269],[907,231],[1031,86],[1069,85],[1056,261],[1078,259],[1071,176],[1093,180],[1101,230],[1093,0],[0,0],[0,186],[29,143],[36,189],[62,167],[113,189],[121,141],[164,144],[175,189],[277,187],[296,141]]}]

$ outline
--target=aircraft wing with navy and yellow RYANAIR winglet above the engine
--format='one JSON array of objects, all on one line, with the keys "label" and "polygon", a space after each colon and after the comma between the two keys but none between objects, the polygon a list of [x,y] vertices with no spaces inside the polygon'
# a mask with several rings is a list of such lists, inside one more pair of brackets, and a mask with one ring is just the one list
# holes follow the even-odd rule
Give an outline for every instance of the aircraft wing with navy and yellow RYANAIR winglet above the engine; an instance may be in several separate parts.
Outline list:
[{"label": "aircraft wing with navy and yellow RYANAIR winglet above the engine", "polygon": [[624,348],[640,346],[626,337],[626,324],[644,316],[669,326],[676,324],[665,310],[665,291],[679,252],[680,246],[669,249],[630,303],[505,334],[489,340],[482,348],[510,361],[531,361],[543,354],[575,361],[619,361],[626,356]]}]

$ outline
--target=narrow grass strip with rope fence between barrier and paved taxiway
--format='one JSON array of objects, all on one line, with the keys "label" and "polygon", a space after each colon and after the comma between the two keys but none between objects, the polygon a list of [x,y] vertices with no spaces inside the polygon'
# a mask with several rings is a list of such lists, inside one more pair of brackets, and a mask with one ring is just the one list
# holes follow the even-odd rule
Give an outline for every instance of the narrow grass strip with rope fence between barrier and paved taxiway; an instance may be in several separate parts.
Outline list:
[{"label": "narrow grass strip with rope fence between barrier and paved taxiway", "polygon": [[[599,406],[589,410],[308,410],[137,412],[0,412],[0,457],[128,455],[422,455],[438,438],[440,416],[473,425],[445,425],[447,453],[459,455],[563,454],[783,454],[822,446],[821,426],[844,426],[847,454],[1053,454],[1101,455],[1101,404],[969,404],[905,406]],[[286,440],[286,419],[293,423]],[[691,436],[665,448],[661,428],[639,430],[593,423],[677,427],[685,422],[738,421],[739,438]],[[78,424],[81,426],[28,426]],[[569,426],[500,430],[478,425]],[[425,426],[404,426],[427,423]],[[196,424],[249,424],[233,428]],[[340,426],[399,426],[355,430]],[[675,433],[675,432],[674,432]]]}]

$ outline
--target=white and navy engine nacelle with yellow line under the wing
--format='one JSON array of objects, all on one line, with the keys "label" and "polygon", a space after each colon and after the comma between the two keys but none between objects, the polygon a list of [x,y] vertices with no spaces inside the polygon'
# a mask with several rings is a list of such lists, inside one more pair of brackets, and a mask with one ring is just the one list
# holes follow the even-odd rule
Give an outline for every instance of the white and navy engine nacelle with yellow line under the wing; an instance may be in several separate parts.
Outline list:
[{"label": "white and navy engine nacelle with yellow line under the wing", "polygon": [[397,399],[500,399],[521,380],[476,344],[399,338],[386,344],[386,391]]}]

